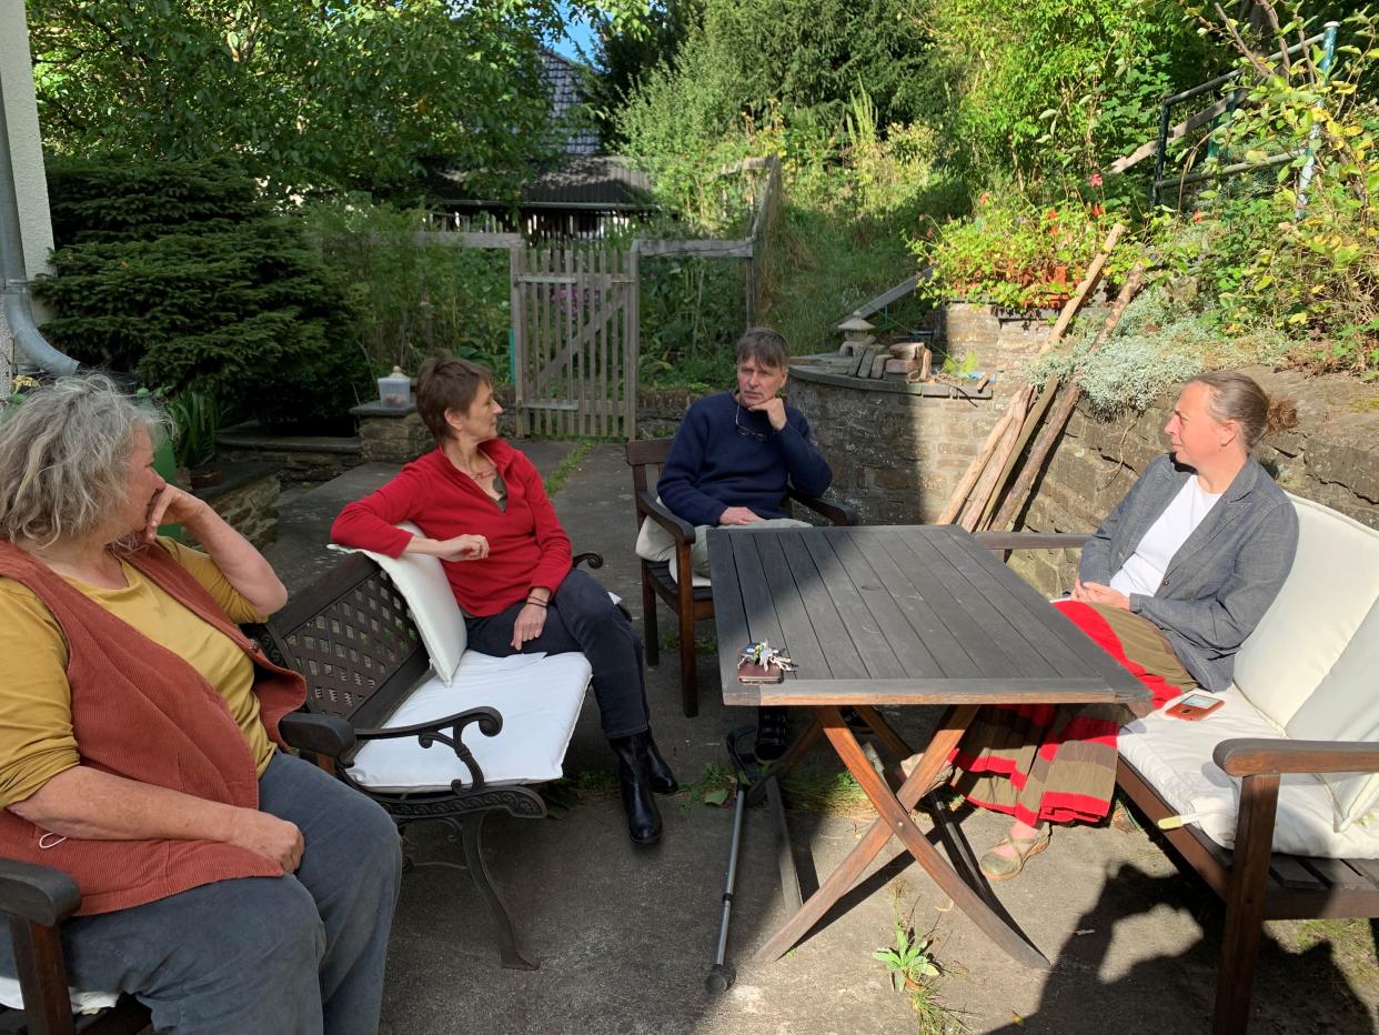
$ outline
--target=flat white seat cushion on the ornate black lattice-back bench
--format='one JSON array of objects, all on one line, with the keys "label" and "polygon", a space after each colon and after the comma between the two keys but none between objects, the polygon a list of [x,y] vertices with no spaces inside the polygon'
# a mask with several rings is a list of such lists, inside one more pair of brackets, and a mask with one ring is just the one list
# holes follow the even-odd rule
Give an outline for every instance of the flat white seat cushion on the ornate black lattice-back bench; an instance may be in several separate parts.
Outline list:
[{"label": "flat white seat cushion on the ornate black lattice-back bench", "polygon": [[[575,731],[589,686],[583,654],[513,654],[495,658],[465,651],[454,680],[422,682],[383,726],[396,729],[441,719],[466,708],[490,705],[503,716],[496,737],[477,726],[465,730],[465,745],[492,784],[530,784],[561,776],[565,748]],[[422,748],[415,737],[376,740],[354,756],[350,778],[374,791],[443,791],[470,773],[444,744]]]}]

